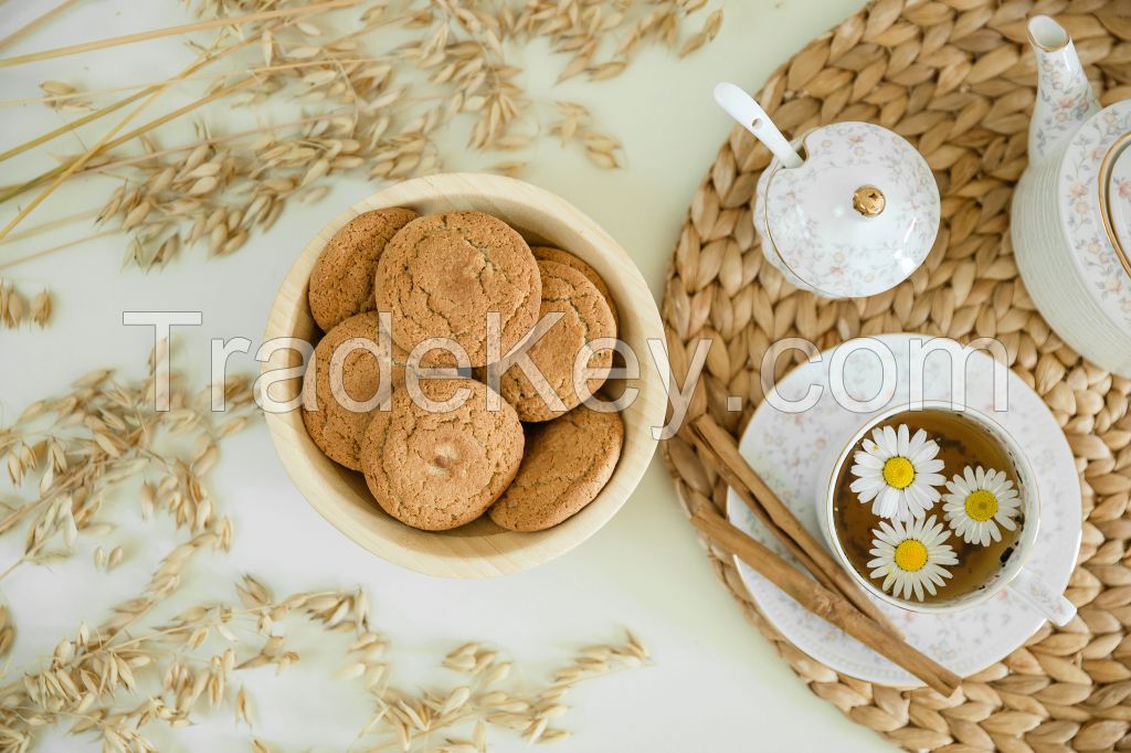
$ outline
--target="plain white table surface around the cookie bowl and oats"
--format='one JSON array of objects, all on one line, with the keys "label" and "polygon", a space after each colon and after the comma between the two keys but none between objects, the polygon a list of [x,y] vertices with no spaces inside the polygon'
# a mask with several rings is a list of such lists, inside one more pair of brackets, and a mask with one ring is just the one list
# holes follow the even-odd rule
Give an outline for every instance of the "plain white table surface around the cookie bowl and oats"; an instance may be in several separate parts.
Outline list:
[{"label": "plain white table surface around the cookie bowl and oats", "polygon": [[[0,36],[46,5],[0,5]],[[711,103],[711,86],[725,78],[754,88],[779,62],[860,5],[860,0],[735,0],[725,5],[718,38],[687,60],[646,51],[619,79],[569,83],[550,92],[551,98],[576,98],[590,106],[601,126],[623,141],[627,166],[599,171],[578,152],[546,140],[523,178],[593,216],[623,244],[653,293],[661,295],[692,194],[731,128]],[[88,0],[2,54],[185,20],[188,15],[174,0]],[[163,40],[6,69],[0,75],[0,98],[35,95],[38,81],[49,78],[90,87],[153,80],[183,64],[183,59],[174,41]],[[525,62],[530,86],[543,90],[560,66],[544,54],[529,54]],[[61,115],[42,106],[9,107],[0,116],[3,146],[62,122]],[[223,116],[219,111],[207,115],[217,124]],[[100,132],[85,131],[87,142]],[[448,153],[449,168],[476,170],[499,161],[495,155],[465,154],[458,148],[461,139],[461,133],[450,139],[456,148]],[[71,152],[77,142],[60,139],[52,146]],[[43,164],[42,158],[14,161],[5,165],[0,182]],[[66,188],[36,210],[27,226],[97,206],[107,185],[88,180]],[[377,188],[362,179],[336,180],[321,202],[288,209],[270,232],[219,261],[206,263],[202,253],[192,250],[182,252],[165,271],[122,272],[123,240],[107,237],[0,271],[28,289],[49,282],[57,296],[49,330],[0,330],[0,423],[89,369],[118,366],[140,373],[150,336],[143,328],[122,327],[123,310],[202,311],[202,327],[182,330],[179,363],[195,383],[204,384],[208,338],[245,336],[258,345],[275,289],[305,239]],[[0,220],[7,222],[12,211],[5,207]],[[80,230],[0,245],[0,260],[54,245]],[[236,371],[254,370],[250,356],[232,361]],[[373,604],[374,625],[391,639],[395,681],[408,689],[446,682],[446,675],[431,667],[465,639],[504,647],[525,676],[538,680],[564,661],[571,649],[616,640],[620,626],[632,628],[650,647],[654,663],[580,687],[570,698],[571,712],[562,719],[575,736],[552,750],[851,753],[887,747],[875,734],[811,694],[746,623],[687,523],[658,453],[632,499],[589,542],[533,572],[480,581],[402,570],[338,534],[291,485],[261,422],[227,441],[222,456],[211,487],[217,507],[235,521],[235,546],[230,556],[205,559],[195,566],[188,597],[230,596],[230,583],[242,572],[257,574],[279,595],[361,583]],[[132,500],[114,504],[121,510],[114,518],[137,517]],[[2,583],[19,630],[16,666],[50,651],[79,620],[101,621],[105,606],[137,591],[156,559],[183,535],[167,522],[133,522],[115,536],[114,543],[126,545],[127,561],[112,573],[94,572],[89,564],[94,544],[87,542],[71,562],[26,568]],[[0,565],[12,555],[12,543],[0,540]],[[329,680],[343,665],[327,649],[304,655],[279,678],[269,669],[244,673],[258,717],[254,734],[278,750],[343,750],[369,708],[360,685]],[[176,739],[157,738],[167,751],[244,751],[249,733],[234,727],[231,715],[223,712]],[[76,750],[69,738],[52,735],[48,741],[45,750]],[[525,746],[504,732],[492,732],[491,742],[501,751]]]}]

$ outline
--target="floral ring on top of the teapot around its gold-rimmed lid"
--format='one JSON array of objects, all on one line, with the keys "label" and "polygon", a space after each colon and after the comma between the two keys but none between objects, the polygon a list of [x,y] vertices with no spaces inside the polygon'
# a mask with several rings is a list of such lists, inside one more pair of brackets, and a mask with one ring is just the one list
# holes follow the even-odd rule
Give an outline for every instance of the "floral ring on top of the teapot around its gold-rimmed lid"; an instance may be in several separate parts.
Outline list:
[{"label": "floral ring on top of the teapot around its gold-rimmed lid", "polygon": [[[1116,256],[1104,227],[1100,167],[1112,146],[1131,131],[1131,101],[1094,115],[1069,140],[1057,179],[1061,226],[1085,285],[1104,313],[1131,332],[1131,275]],[[1116,184],[1117,192],[1124,188]]]}]

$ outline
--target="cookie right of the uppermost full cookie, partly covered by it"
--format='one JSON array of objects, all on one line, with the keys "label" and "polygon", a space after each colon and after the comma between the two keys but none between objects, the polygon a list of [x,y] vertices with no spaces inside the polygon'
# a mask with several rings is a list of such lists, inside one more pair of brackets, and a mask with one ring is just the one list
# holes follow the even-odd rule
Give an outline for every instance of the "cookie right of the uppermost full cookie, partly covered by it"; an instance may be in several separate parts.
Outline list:
[{"label": "cookie right of the uppermost full cookie, partly covered by it", "polygon": [[[526,353],[554,395],[561,399],[566,410],[554,409],[549,405],[516,364],[501,376],[499,392],[515,406],[523,421],[551,421],[580,405],[587,396],[578,396],[573,389],[573,360],[586,343],[616,334],[608,304],[584,274],[556,261],[539,261],[538,271],[542,275],[538,319],[553,312],[564,315],[530,345]],[[605,370],[612,363],[613,352],[606,349],[595,353],[588,365],[590,369]],[[588,380],[589,390],[596,391],[604,381],[604,378]]]}]

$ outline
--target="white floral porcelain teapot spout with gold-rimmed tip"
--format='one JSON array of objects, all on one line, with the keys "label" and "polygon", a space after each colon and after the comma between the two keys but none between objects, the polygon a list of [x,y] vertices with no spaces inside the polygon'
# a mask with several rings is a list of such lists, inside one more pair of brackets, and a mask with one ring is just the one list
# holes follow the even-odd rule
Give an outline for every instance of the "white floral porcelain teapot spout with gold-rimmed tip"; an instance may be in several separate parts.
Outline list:
[{"label": "white floral porcelain teapot spout with gold-rimmed tip", "polygon": [[1029,162],[1036,164],[1060,154],[1099,111],[1099,101],[1063,26],[1048,16],[1034,16],[1028,32],[1037,59],[1037,102],[1029,122]]}]

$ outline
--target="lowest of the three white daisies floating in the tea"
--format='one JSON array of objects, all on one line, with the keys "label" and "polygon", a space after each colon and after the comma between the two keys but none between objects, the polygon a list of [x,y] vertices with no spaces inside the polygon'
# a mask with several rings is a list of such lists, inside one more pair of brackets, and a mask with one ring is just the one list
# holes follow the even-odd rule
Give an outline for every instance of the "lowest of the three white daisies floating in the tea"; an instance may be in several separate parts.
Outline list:
[{"label": "lowest of the three white daisies floating in the tea", "polygon": [[904,522],[880,521],[880,528],[872,530],[872,549],[875,559],[867,563],[872,578],[883,578],[880,587],[901,599],[910,599],[912,592],[920,601],[923,591],[935,595],[935,587],[942,586],[950,571],[943,565],[958,564],[955,549],[944,544],[950,531],[938,522],[934,516]]}]

